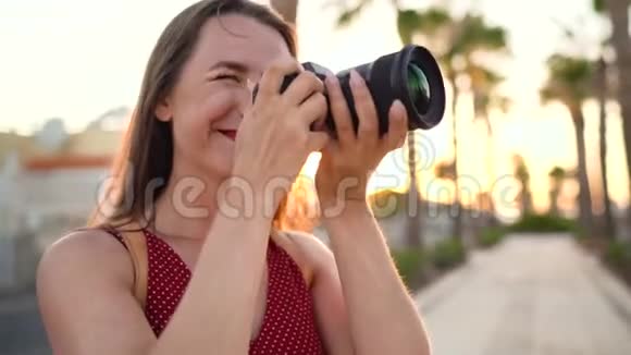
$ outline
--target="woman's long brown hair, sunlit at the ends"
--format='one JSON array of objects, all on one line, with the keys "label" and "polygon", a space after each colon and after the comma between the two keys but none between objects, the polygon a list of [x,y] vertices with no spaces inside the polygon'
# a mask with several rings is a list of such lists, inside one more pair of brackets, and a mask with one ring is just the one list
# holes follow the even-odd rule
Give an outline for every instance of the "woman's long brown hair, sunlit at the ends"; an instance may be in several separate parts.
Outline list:
[{"label": "woman's long brown hair, sunlit at the ends", "polygon": [[[106,199],[99,199],[88,227],[115,229],[131,221],[148,224],[156,218],[152,206],[164,193],[173,169],[172,123],[158,120],[156,107],[176,85],[201,27],[209,19],[225,14],[248,16],[277,30],[296,58],[293,26],[268,7],[248,0],[203,0],[182,11],[162,32],[151,52],[129,127],[112,167],[112,183],[106,187]],[[296,186],[305,189],[300,182]],[[281,203],[274,224],[310,230],[314,218],[305,216],[311,208],[309,201],[305,196],[293,195],[289,193]],[[103,210],[104,204],[111,206],[109,211]],[[290,205],[294,209],[288,216]]]}]

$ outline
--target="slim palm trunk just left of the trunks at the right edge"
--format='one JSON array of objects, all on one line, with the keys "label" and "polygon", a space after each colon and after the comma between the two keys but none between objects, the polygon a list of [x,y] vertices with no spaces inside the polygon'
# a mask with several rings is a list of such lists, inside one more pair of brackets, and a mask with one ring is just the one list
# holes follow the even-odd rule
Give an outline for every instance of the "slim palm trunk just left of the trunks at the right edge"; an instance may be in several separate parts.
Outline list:
[{"label": "slim palm trunk just left of the trunks at the right edge", "polygon": [[571,110],[572,119],[574,121],[574,134],[577,138],[578,150],[578,174],[579,174],[579,220],[582,227],[582,232],[591,236],[592,229],[592,195],[590,192],[590,181],[587,179],[587,160],[585,152],[585,120],[580,106]]}]

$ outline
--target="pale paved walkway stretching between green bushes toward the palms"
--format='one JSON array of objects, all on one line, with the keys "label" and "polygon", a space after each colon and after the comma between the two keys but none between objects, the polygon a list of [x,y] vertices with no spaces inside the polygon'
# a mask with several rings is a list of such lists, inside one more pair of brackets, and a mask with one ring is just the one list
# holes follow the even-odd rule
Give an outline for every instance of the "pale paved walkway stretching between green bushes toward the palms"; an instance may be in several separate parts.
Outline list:
[{"label": "pale paved walkway stretching between green bushes toward the palms", "polygon": [[418,302],[435,355],[631,354],[631,293],[566,236],[474,253]]}]

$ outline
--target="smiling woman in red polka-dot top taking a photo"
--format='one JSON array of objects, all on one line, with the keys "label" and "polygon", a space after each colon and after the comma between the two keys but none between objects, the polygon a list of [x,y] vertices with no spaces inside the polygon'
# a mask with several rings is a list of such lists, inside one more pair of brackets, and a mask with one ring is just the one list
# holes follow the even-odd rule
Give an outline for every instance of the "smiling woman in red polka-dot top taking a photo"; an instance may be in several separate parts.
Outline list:
[{"label": "smiling woman in red polka-dot top taking a photo", "polygon": [[[169,24],[120,160],[117,204],[40,262],[57,354],[429,354],[366,198],[367,176],[405,139],[405,109],[393,105],[380,138],[354,73],[355,134],[336,79],[322,83],[295,57],[292,28],[247,0],[201,1]],[[324,88],[335,139],[323,130]],[[312,151],[333,252],[305,233],[287,232],[287,249],[270,237],[287,217],[277,192]],[[149,254],[145,309],[117,233],[132,222]]]}]

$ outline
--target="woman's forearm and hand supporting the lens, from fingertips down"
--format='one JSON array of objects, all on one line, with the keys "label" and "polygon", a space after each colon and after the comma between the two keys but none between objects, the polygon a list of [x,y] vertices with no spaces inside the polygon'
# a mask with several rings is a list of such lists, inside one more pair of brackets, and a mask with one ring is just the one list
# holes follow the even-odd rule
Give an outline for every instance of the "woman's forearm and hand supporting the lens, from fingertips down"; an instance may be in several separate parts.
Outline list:
[{"label": "woman's forearm and hand supporting the lens, from fingertips down", "polygon": [[342,280],[355,351],[359,355],[428,355],[430,344],[417,307],[367,201],[371,172],[405,142],[407,111],[395,100],[387,117],[387,133],[382,135],[366,82],[350,71],[349,83],[357,128],[338,79],[326,78],[337,138],[322,149],[316,187]]}]

